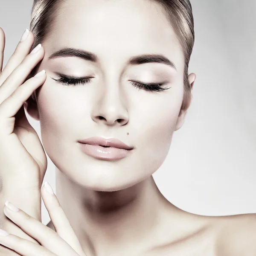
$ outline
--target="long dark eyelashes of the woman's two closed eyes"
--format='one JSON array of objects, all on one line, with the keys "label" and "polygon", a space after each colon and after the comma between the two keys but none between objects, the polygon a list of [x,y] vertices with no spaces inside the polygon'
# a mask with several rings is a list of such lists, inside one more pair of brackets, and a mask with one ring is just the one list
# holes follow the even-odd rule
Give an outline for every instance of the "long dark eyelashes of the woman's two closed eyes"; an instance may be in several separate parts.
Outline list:
[{"label": "long dark eyelashes of the woman's two closed eyes", "polygon": [[[61,84],[66,85],[66,86],[70,86],[70,85],[76,86],[77,84],[90,83],[91,79],[92,79],[92,77],[77,78],[75,76],[63,76],[63,75],[59,75],[59,76],[60,76],[59,79],[54,79],[52,77],[51,78]],[[137,87],[139,90],[144,89],[144,90],[148,90],[148,91],[160,92],[160,91],[169,89],[169,88],[161,87],[161,85],[163,85],[163,84],[143,84],[143,83],[139,83],[136,81],[131,81],[131,84],[134,85],[135,87]]]}]

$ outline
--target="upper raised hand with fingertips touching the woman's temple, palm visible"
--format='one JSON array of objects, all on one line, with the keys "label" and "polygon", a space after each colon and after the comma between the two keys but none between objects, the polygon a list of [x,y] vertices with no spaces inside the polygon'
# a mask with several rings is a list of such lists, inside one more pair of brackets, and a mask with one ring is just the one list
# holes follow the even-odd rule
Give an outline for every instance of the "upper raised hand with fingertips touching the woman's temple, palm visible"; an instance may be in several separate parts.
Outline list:
[{"label": "upper raised hand with fingertips touching the woman's temple, palm visible", "polygon": [[[0,28],[0,204],[9,198],[41,221],[41,186],[47,157],[38,134],[26,118],[23,105],[46,80],[45,73],[28,79],[44,57],[43,47],[29,54],[34,41],[29,31],[2,70],[5,34]],[[17,230],[2,211],[0,225],[8,231]],[[17,234],[22,235],[22,230],[18,229]]]}]

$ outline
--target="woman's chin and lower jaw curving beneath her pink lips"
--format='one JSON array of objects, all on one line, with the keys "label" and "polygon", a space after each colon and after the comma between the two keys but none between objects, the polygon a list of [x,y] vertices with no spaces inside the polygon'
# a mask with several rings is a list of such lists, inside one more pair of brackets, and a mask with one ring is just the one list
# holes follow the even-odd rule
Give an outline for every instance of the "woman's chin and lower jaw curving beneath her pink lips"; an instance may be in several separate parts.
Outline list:
[{"label": "woman's chin and lower jaw curving beneath her pink lips", "polygon": [[[128,189],[146,180],[159,169],[166,154],[131,154],[117,161],[100,160],[81,154],[72,147],[55,152],[52,162],[64,174],[64,179],[94,191],[113,192]],[[135,153],[135,152],[134,152]],[[166,152],[164,152],[166,153]],[[62,161],[60,161],[60,159]]]}]

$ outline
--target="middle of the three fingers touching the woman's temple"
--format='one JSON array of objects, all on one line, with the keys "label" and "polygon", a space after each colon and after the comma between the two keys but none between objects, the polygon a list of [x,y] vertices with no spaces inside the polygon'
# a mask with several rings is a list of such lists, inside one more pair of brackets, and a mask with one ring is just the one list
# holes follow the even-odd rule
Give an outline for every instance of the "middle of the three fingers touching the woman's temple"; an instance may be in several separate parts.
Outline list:
[{"label": "middle of the three fingers touching the woman's temple", "polygon": [[[38,52],[31,53],[24,58],[20,65],[6,78],[0,87],[0,104],[8,98],[20,84],[27,79],[33,68],[44,57],[44,49],[38,45]],[[3,71],[4,72],[4,71]]]}]

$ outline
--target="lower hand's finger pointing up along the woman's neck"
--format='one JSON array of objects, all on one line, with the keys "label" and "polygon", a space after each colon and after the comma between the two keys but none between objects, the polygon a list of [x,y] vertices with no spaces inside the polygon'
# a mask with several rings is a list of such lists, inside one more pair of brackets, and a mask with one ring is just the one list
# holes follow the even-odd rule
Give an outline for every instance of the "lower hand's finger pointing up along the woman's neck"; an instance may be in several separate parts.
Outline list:
[{"label": "lower hand's finger pointing up along the woman's neck", "polygon": [[[49,189],[47,192],[47,189]],[[61,207],[58,198],[54,194],[48,182],[44,183],[41,190],[41,196],[44,205],[49,213],[52,224],[56,233],[64,239],[79,255],[83,255],[81,244],[73,230],[64,210]]]}]

